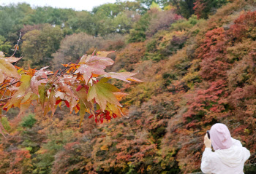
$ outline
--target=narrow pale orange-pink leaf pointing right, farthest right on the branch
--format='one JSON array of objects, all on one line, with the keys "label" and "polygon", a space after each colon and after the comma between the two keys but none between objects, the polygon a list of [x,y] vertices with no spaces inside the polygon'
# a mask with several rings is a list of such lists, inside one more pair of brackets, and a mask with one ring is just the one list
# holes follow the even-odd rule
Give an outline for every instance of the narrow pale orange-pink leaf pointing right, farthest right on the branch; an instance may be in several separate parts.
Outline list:
[{"label": "narrow pale orange-pink leaf pointing right, farthest right on the branch", "polygon": [[119,80],[122,80],[124,82],[131,82],[131,81],[143,82],[139,79],[136,79],[135,77],[132,77],[136,74],[138,74],[138,73],[130,73],[130,72],[114,73],[114,72],[111,72],[111,73],[106,74],[105,77],[119,79]]}]

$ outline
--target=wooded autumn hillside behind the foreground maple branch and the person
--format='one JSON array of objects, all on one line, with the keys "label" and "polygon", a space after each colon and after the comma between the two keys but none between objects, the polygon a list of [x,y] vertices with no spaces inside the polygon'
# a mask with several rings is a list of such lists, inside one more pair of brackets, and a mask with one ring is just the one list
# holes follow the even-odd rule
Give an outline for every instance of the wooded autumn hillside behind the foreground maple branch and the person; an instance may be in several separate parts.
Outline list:
[{"label": "wooded autumn hillside behind the foreground maple branch and the person", "polygon": [[65,107],[53,117],[40,106],[19,117],[12,109],[1,119],[10,135],[0,135],[0,173],[196,172],[217,122],[255,154],[255,10],[254,0],[117,1],[92,12],[0,6],[0,51],[12,55],[22,35],[17,66],[58,70],[116,50],[108,71],[144,81],[112,81],[129,93],[129,114],[103,124],[79,128]]}]

